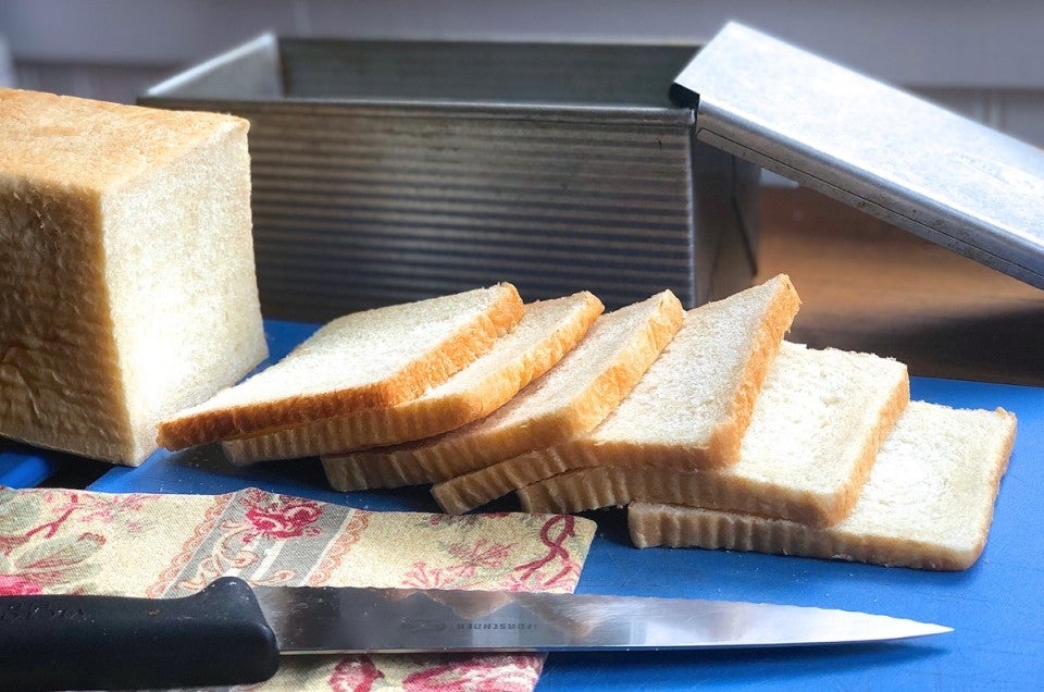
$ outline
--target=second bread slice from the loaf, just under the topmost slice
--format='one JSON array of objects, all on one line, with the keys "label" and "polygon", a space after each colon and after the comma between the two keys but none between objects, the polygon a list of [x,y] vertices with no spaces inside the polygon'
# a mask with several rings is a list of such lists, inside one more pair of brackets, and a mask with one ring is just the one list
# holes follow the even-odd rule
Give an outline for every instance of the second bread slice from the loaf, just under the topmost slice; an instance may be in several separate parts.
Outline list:
[{"label": "second bread slice from the loaf, just under the topmost slice", "polygon": [[234,464],[250,464],[393,445],[453,430],[493,412],[544,374],[584,337],[602,309],[586,291],[529,304],[522,321],[489,351],[415,399],[221,446]]}]

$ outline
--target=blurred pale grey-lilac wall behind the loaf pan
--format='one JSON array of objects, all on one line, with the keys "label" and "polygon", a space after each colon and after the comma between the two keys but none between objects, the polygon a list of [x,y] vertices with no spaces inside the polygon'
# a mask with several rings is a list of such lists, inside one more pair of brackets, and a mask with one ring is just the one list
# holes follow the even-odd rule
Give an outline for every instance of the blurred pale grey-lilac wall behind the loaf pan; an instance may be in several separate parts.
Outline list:
[{"label": "blurred pale grey-lilac wall behind the loaf pan", "polygon": [[1044,145],[1044,3],[1035,0],[4,0],[0,83],[130,102],[268,29],[692,42],[730,18]]}]

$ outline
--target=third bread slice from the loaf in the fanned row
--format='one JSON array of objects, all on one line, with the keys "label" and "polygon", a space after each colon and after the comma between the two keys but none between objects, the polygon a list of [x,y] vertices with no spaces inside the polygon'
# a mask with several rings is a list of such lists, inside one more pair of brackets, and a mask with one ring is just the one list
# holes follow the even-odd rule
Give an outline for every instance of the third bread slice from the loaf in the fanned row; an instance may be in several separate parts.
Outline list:
[{"label": "third bread slice from the loaf in the fanned row", "polygon": [[431,483],[566,440],[597,425],[682,323],[669,291],[604,314],[555,368],[490,416],[398,447],[322,457],[341,491]]}]

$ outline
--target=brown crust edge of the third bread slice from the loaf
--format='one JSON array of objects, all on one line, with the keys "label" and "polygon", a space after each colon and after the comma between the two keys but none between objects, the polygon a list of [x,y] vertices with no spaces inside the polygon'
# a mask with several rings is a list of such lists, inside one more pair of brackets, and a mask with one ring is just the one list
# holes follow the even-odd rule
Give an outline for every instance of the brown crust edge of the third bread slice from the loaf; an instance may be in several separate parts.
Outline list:
[{"label": "brown crust edge of the third bread slice from the loaf", "polygon": [[345,491],[439,482],[591,430],[626,396],[656,360],[681,328],[683,313],[681,302],[672,293],[659,294],[655,311],[642,329],[632,334],[614,362],[579,390],[567,406],[543,411],[524,424],[481,434],[450,433],[430,444],[325,456],[323,465],[327,477],[334,487]]}]

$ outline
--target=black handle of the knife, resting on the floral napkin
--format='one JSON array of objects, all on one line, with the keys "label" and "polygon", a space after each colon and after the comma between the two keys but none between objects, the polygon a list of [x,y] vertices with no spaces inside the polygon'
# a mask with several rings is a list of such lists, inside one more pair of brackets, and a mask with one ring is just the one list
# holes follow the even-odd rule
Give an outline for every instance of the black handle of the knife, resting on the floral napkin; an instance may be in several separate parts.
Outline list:
[{"label": "black handle of the knife, resting on the floral napkin", "polygon": [[0,689],[251,683],[279,667],[250,586],[224,577],[184,598],[0,596]]}]

